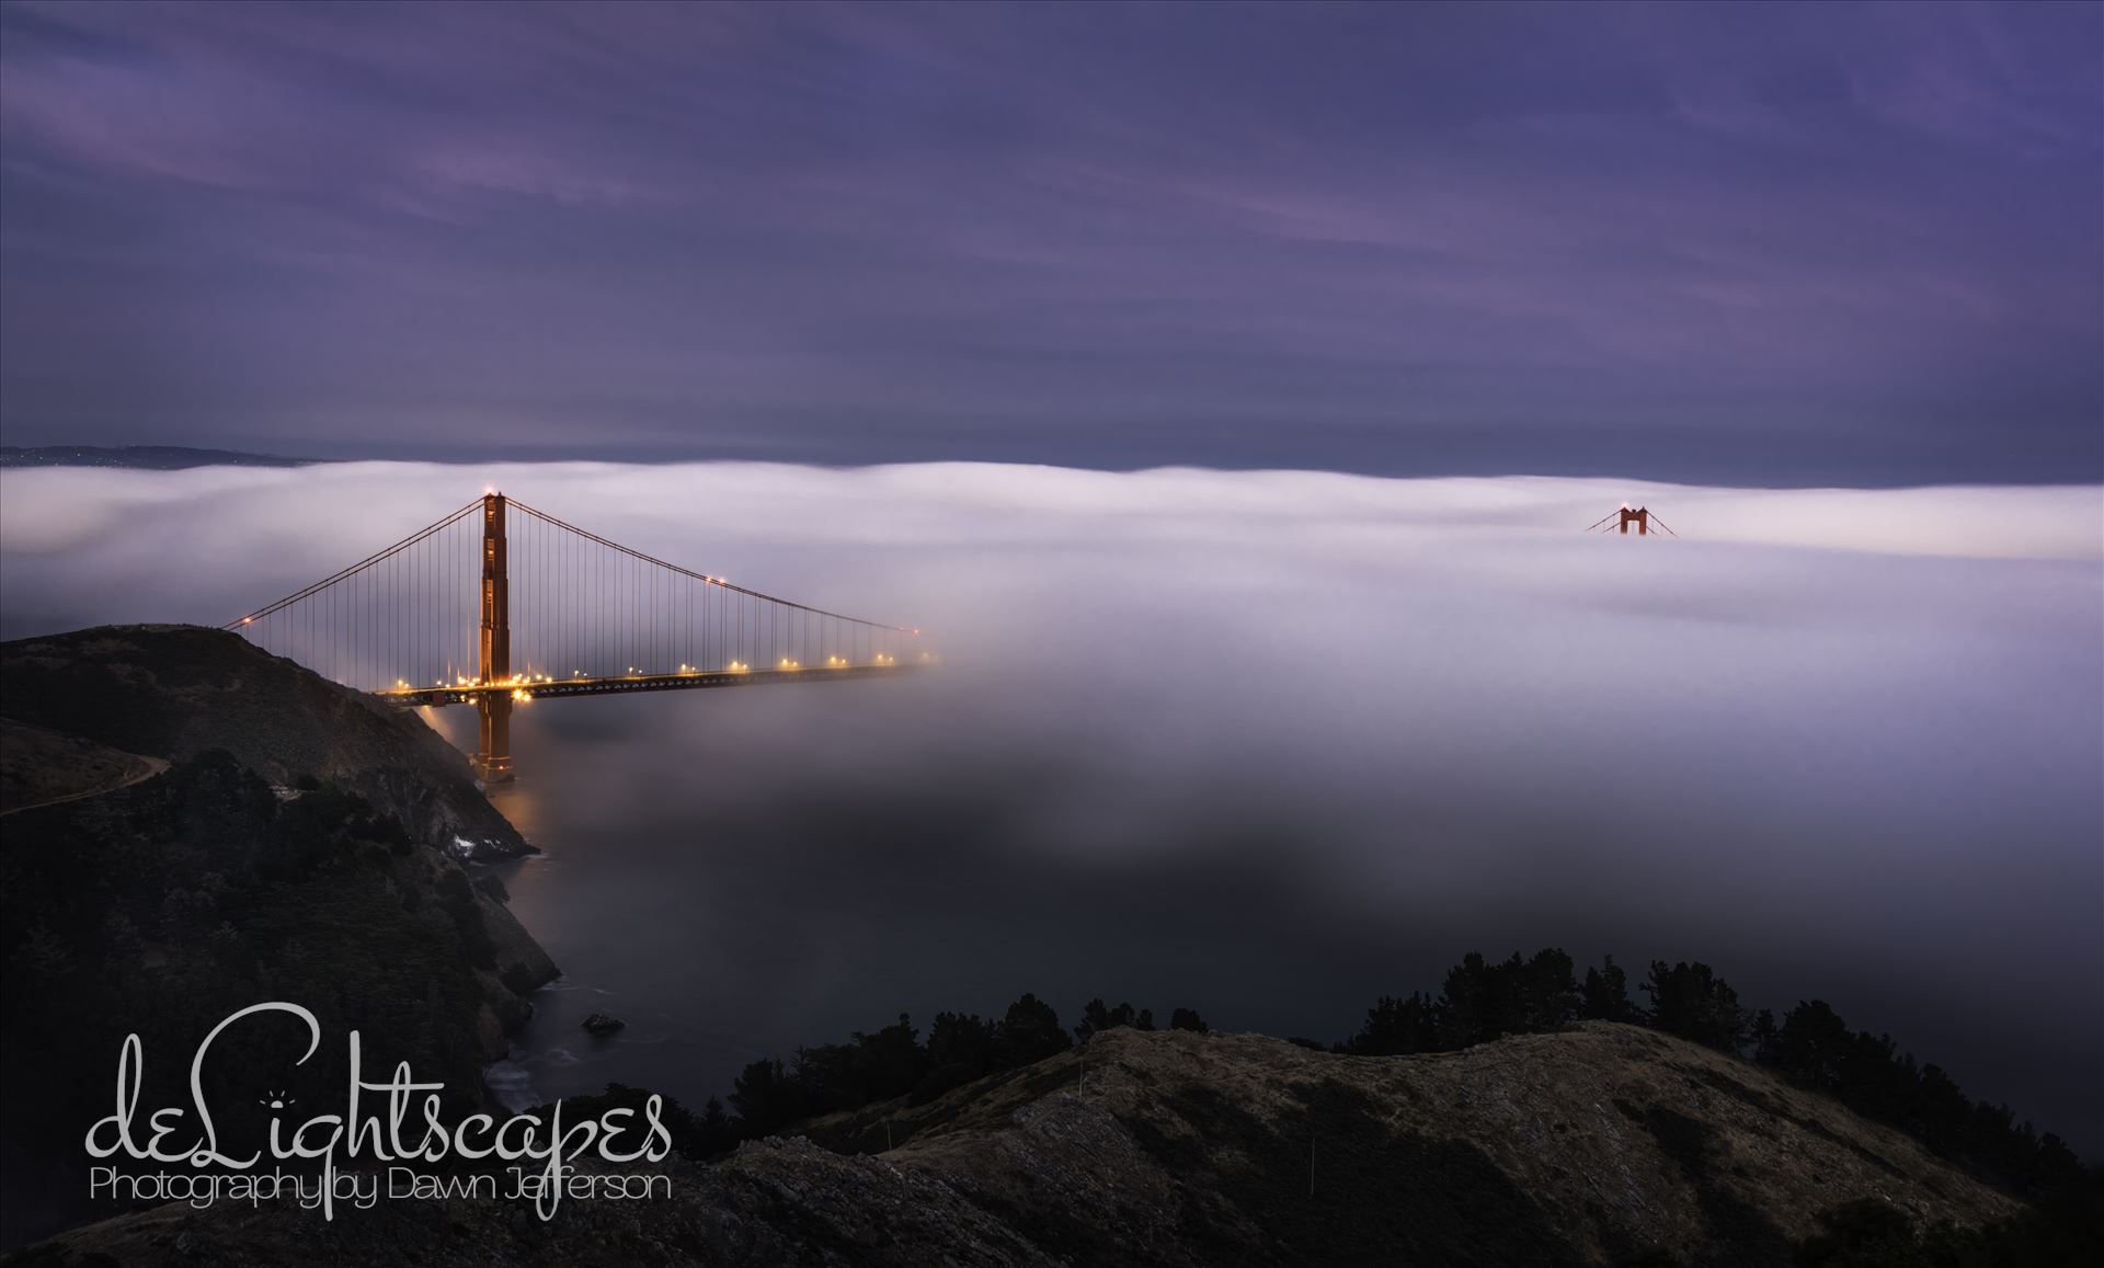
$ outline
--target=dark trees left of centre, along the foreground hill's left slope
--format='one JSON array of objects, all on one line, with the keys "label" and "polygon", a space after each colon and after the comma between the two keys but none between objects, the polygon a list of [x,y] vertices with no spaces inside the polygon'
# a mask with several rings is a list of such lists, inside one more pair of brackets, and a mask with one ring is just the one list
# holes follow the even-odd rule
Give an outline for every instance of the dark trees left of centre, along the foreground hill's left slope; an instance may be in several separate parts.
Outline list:
[{"label": "dark trees left of centre, along the foreground hill's left slope", "polygon": [[[781,1058],[751,1062],[730,1093],[736,1119],[711,1098],[696,1125],[711,1144],[728,1148],[741,1138],[766,1136],[812,1114],[856,1110],[901,1096],[909,1104],[926,1104],[951,1087],[1035,1064],[1117,1026],[1153,1030],[1155,1014],[1145,1007],[1134,1009],[1130,1003],[1111,1007],[1102,999],[1092,999],[1069,1039],[1052,1005],[1025,995],[999,1018],[936,1014],[926,1043],[913,1020],[898,1014],[894,1024],[871,1035],[856,1030],[846,1043],[800,1047],[789,1062]],[[1170,1028],[1203,1032],[1206,1022],[1180,1007],[1170,1014]]]}]

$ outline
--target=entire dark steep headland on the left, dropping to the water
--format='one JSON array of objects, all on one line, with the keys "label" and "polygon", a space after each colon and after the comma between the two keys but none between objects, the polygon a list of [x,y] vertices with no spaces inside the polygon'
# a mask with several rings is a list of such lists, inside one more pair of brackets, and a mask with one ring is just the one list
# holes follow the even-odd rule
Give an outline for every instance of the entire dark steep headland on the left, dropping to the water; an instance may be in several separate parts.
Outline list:
[{"label": "entire dark steep headland on the left, dropping to the water", "polygon": [[[343,1085],[356,1028],[497,1108],[482,1066],[555,965],[461,868],[465,835],[528,847],[427,725],[185,627],[0,646],[0,1245],[114,1209],[86,1205],[80,1138],[128,1032],[168,1098],[177,1054],[284,999],[335,1037],[313,1087]],[[284,1060],[215,1058],[231,1127],[259,1129]]]}]

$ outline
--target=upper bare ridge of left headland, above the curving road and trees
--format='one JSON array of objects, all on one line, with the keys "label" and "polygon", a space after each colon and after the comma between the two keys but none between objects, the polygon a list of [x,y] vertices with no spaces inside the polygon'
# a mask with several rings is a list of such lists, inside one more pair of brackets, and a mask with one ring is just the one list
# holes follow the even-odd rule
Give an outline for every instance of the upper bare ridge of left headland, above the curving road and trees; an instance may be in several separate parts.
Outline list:
[{"label": "upper bare ridge of left headland, above the curving road and trees", "polygon": [[0,643],[6,717],[162,759],[225,749],[276,784],[330,778],[461,860],[532,847],[414,713],[196,625],[109,625]]}]

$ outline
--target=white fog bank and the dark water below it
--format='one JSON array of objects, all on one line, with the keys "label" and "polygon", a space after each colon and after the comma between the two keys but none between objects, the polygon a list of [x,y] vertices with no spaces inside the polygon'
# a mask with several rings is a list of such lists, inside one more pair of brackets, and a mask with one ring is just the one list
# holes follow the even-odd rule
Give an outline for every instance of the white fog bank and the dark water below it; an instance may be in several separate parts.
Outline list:
[{"label": "white fog bank and the dark water below it", "polygon": [[[667,1022],[684,1096],[1023,990],[1334,1039],[1464,950],[1563,944],[1826,997],[2104,1144],[2098,488],[8,471],[0,633],[217,625],[484,486],[945,658],[520,713],[520,913],[572,984],[707,1018]],[[1624,500],[1679,536],[1582,532]]]}]

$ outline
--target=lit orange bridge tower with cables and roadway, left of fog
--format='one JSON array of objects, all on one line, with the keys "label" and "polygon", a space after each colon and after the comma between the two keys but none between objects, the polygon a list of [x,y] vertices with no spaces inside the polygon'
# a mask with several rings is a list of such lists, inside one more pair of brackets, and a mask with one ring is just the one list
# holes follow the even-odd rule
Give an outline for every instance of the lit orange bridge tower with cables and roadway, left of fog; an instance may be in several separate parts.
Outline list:
[{"label": "lit orange bridge tower with cables and roadway, left of fog", "polygon": [[391,704],[473,704],[484,782],[511,778],[511,709],[530,700],[932,660],[913,627],[764,595],[494,490],[225,629]]}]

